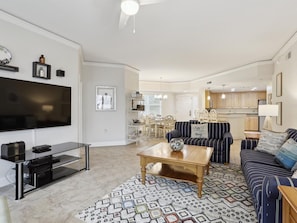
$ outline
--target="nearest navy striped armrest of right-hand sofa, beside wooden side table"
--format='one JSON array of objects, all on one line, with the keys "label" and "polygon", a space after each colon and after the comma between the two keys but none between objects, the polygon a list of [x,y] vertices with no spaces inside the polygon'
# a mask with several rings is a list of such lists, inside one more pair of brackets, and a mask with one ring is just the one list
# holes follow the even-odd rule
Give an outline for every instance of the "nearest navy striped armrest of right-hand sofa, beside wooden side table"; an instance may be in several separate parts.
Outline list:
[{"label": "nearest navy striped armrest of right-hand sofa, beside wooden side table", "polygon": [[297,187],[297,179],[291,177],[266,176],[262,184],[261,222],[281,222],[282,196],[278,186]]}]

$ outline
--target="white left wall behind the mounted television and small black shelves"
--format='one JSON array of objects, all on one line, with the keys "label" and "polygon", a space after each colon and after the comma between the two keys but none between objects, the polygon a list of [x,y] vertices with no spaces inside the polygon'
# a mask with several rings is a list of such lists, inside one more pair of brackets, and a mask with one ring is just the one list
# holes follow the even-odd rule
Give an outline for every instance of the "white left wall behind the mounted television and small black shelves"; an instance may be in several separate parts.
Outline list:
[{"label": "white left wall behind the mounted television and small black shelves", "polygon": [[[3,12],[0,12],[0,27],[1,45],[12,53],[13,59],[9,65],[19,67],[16,73],[0,70],[1,77],[71,86],[72,89],[71,126],[1,132],[0,144],[24,141],[26,149],[31,149],[34,145],[80,141],[79,46]],[[46,63],[51,65],[50,80],[32,77],[32,62],[38,61],[41,54],[45,55]],[[65,77],[57,77],[57,69],[65,70]],[[11,164],[0,160],[0,186],[8,183],[5,176],[10,167]]]}]

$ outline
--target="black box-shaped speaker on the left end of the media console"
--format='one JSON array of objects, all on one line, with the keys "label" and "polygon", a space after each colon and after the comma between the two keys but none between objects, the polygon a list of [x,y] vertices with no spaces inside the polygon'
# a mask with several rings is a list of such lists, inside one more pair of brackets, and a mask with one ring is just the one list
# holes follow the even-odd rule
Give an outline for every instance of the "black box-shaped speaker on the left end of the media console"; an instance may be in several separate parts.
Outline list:
[{"label": "black box-shaped speaker on the left end of the media console", "polygon": [[1,159],[16,162],[25,160],[25,142],[19,141],[1,145]]}]

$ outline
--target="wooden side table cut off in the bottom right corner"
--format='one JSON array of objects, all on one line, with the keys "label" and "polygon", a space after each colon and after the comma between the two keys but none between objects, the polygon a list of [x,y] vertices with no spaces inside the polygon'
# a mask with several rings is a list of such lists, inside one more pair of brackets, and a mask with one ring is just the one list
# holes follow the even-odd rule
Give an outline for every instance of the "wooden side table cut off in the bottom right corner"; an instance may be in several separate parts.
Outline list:
[{"label": "wooden side table cut off in the bottom right corner", "polygon": [[297,188],[278,186],[283,195],[283,223],[297,223]]}]

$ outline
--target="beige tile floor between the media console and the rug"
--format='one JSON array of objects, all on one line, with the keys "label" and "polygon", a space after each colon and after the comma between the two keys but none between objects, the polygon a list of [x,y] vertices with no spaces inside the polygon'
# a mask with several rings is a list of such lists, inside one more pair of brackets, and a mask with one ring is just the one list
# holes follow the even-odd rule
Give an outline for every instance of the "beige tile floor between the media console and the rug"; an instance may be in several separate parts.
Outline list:
[{"label": "beige tile floor between the media console and the rug", "polygon": [[[75,214],[140,172],[136,154],[160,140],[90,149],[89,171],[82,171],[14,200],[14,186],[0,188],[7,196],[13,223],[76,223]],[[231,147],[231,163],[240,163],[240,141]]]}]

